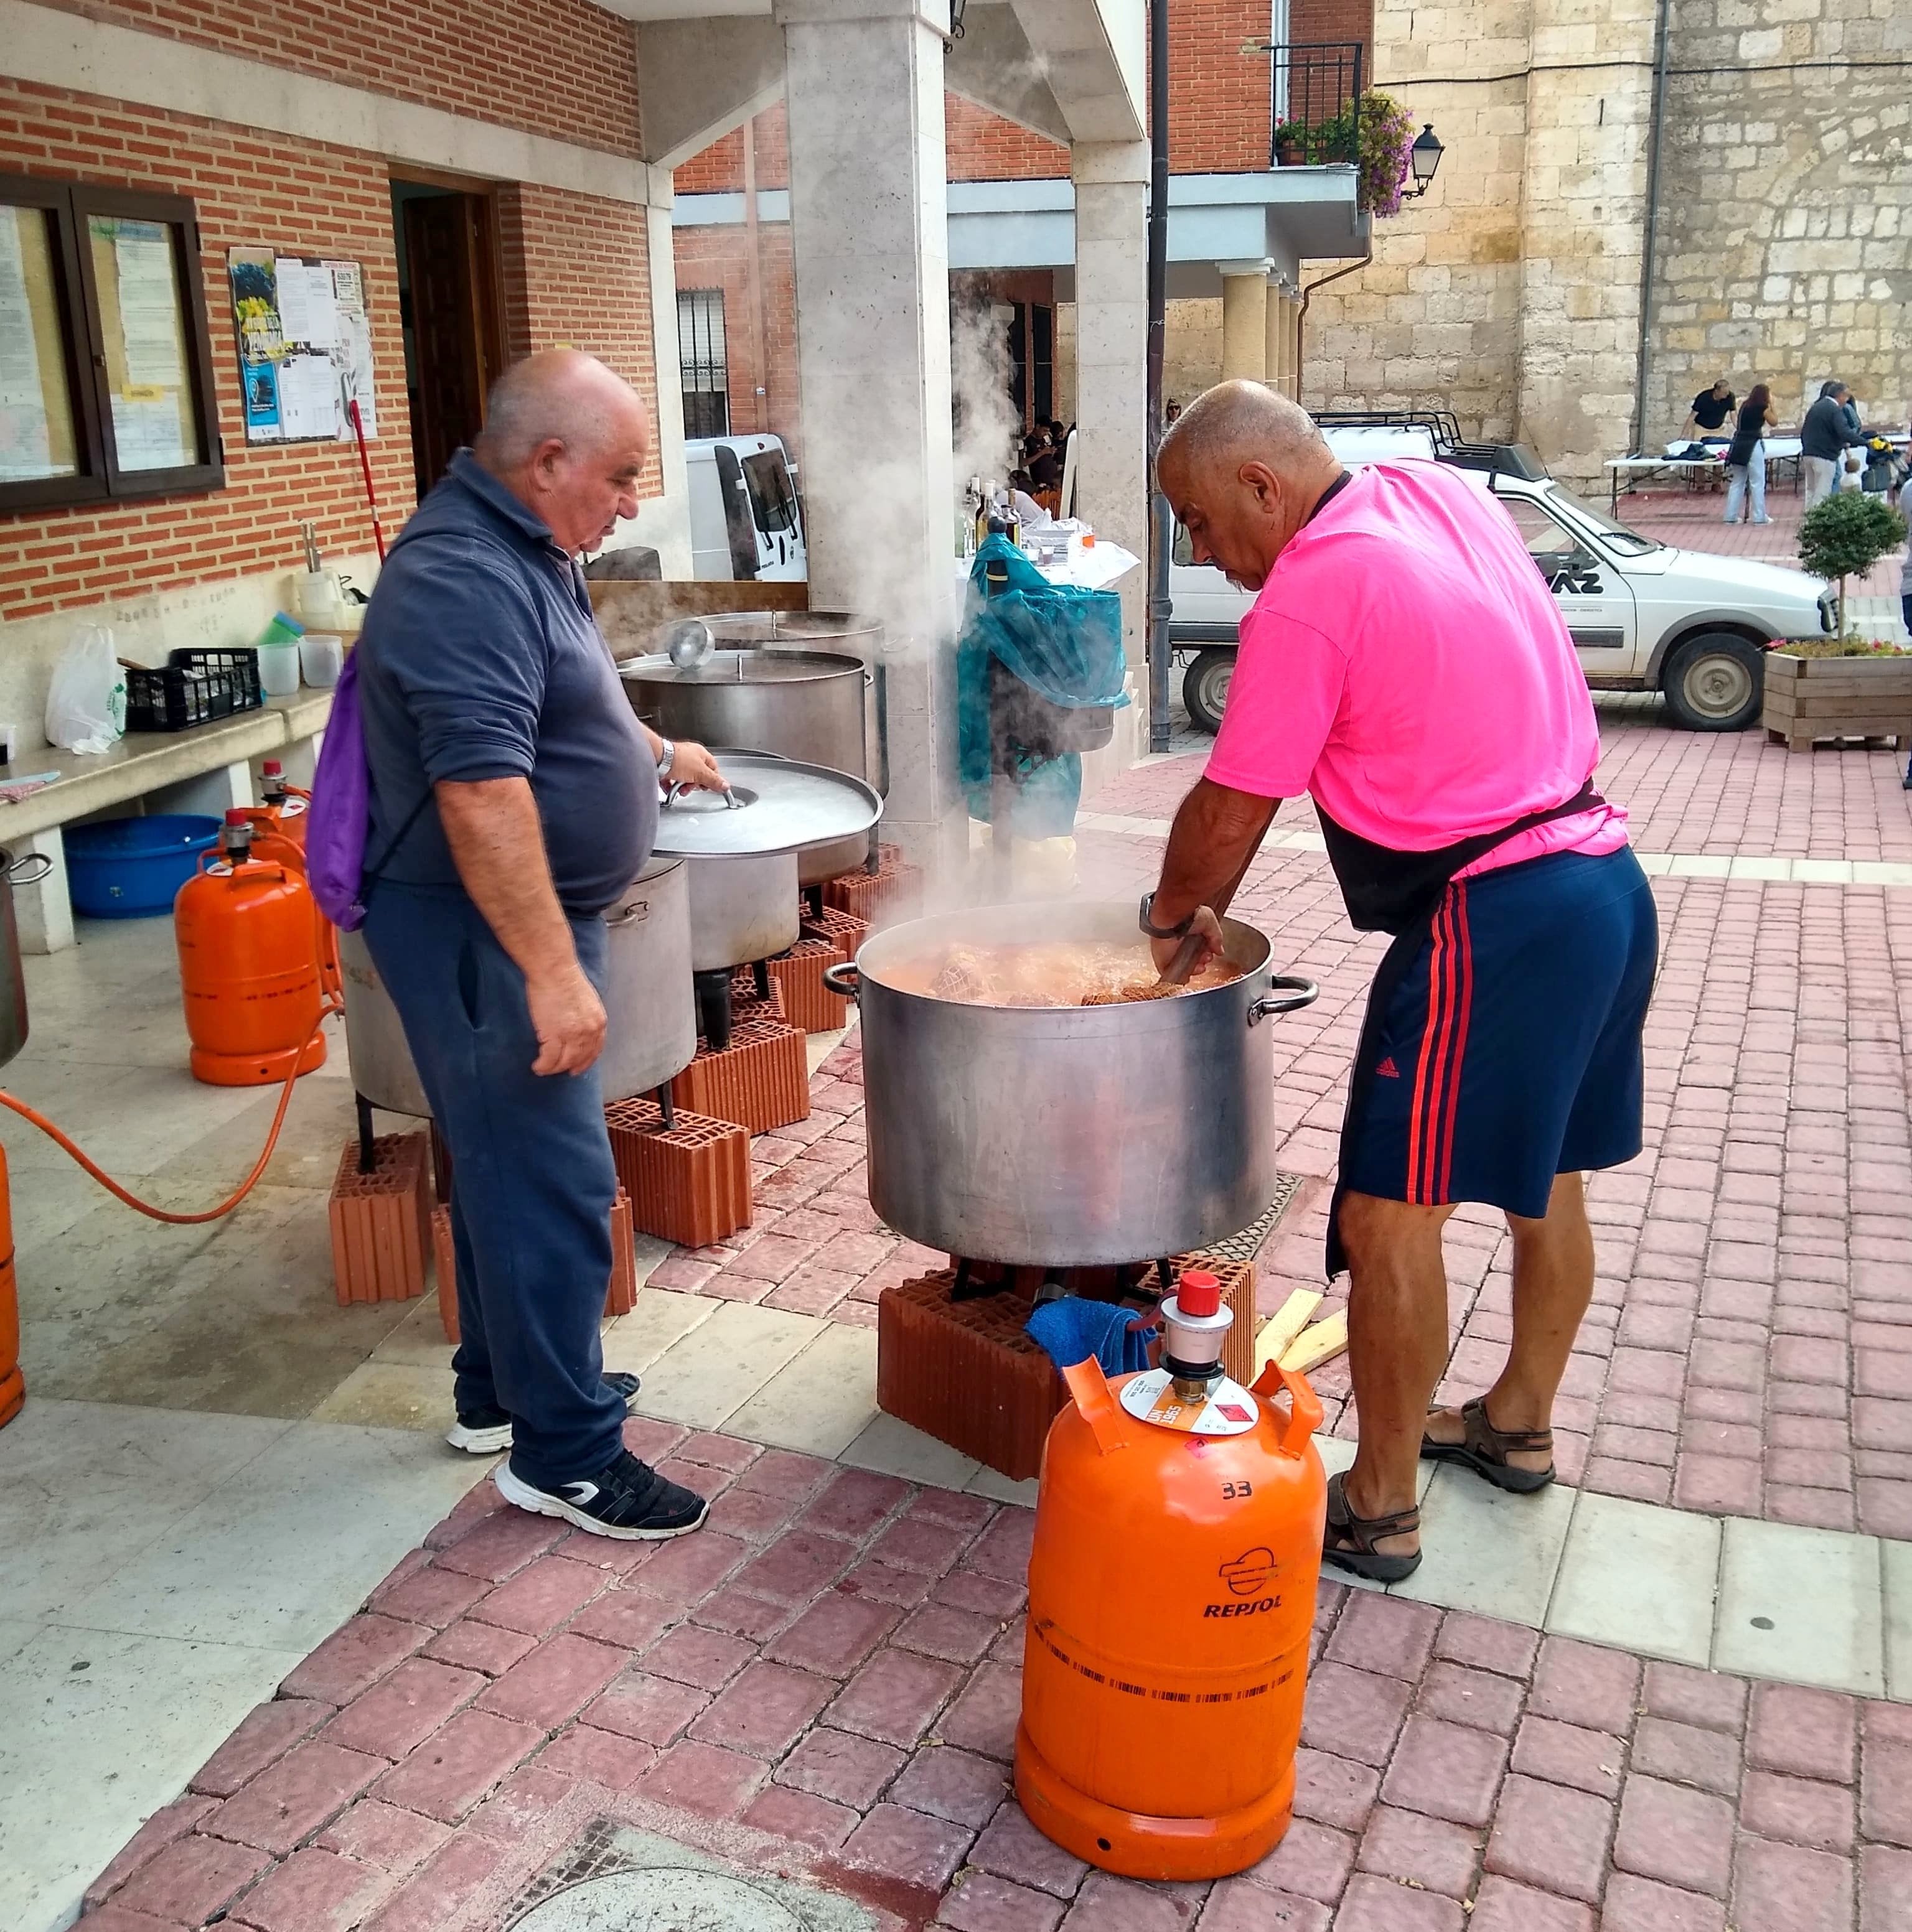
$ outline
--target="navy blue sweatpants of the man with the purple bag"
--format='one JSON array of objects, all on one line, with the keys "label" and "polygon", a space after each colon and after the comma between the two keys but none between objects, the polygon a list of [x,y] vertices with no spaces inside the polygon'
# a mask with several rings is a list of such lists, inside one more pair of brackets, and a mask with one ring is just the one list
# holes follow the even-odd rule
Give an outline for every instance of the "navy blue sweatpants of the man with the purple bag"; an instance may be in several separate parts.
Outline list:
[{"label": "navy blue sweatpants of the man with the purple bag", "polygon": [[[624,1426],[597,1341],[617,1190],[597,1068],[532,1072],[524,974],[456,887],[385,883],[363,931],[452,1157],[456,1405],[512,1418],[512,1468],[536,1488],[592,1478]],[[601,993],[603,920],[570,931]]]}]

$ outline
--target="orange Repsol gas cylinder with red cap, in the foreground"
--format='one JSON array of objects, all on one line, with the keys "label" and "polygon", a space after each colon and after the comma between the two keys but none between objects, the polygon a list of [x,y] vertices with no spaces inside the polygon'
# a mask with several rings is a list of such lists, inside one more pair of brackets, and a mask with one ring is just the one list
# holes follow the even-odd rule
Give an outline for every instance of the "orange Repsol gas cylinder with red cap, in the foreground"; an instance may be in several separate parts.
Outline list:
[{"label": "orange Repsol gas cylinder with red cap, in the foreground", "polygon": [[[1028,1561],[1015,1795],[1125,1878],[1241,1872],[1288,1830],[1328,1486],[1320,1403],[1220,1372],[1214,1275],[1162,1302],[1162,1366],[1067,1370]],[[1286,1385],[1286,1412],[1270,1401]]]}]

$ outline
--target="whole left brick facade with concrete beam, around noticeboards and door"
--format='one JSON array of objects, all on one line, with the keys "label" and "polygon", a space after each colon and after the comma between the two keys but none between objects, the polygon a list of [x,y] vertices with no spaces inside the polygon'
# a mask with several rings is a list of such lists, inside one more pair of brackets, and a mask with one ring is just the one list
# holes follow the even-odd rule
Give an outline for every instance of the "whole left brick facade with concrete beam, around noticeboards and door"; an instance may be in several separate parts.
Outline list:
[{"label": "whole left brick facade with concrete beam, around noticeboards and door", "polygon": [[[636,46],[588,0],[329,0],[323,19],[292,0],[4,0],[0,44],[0,174],[191,197],[224,454],[218,489],[0,512],[6,717],[37,724],[75,614],[149,663],[251,641],[302,568],[302,522],[371,576],[352,444],[246,442],[232,247],[362,263],[387,535],[416,495],[394,180],[487,197],[505,357],[574,344],[655,400],[661,211],[636,160]],[[68,70],[91,85],[50,83]],[[659,491],[653,456],[644,495]]]}]

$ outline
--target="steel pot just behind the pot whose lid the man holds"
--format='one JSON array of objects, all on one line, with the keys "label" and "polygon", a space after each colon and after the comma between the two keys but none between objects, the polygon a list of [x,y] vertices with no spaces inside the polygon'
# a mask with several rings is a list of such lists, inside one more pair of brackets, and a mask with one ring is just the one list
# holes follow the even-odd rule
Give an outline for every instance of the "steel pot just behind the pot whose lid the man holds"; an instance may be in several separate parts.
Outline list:
[{"label": "steel pot just behind the pot whose lid the man holds", "polygon": [[[702,665],[638,657],[619,665],[632,711],[665,738],[771,752],[868,779],[864,688],[870,668],[831,651],[773,645],[715,649]],[[802,854],[798,879],[816,885],[870,856],[872,833]]]}]

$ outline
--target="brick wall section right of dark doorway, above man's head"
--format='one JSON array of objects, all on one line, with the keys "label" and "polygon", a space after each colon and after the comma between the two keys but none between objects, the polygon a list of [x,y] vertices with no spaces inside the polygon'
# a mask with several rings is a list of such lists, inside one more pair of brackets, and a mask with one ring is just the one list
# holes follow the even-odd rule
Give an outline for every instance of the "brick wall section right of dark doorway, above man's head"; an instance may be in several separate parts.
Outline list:
[{"label": "brick wall section right of dark doorway, above man's head", "polygon": [[[657,355],[644,209],[522,182],[499,191],[499,228],[507,354],[586,350],[655,404]],[[655,497],[661,491],[653,442],[638,495]]]}]

